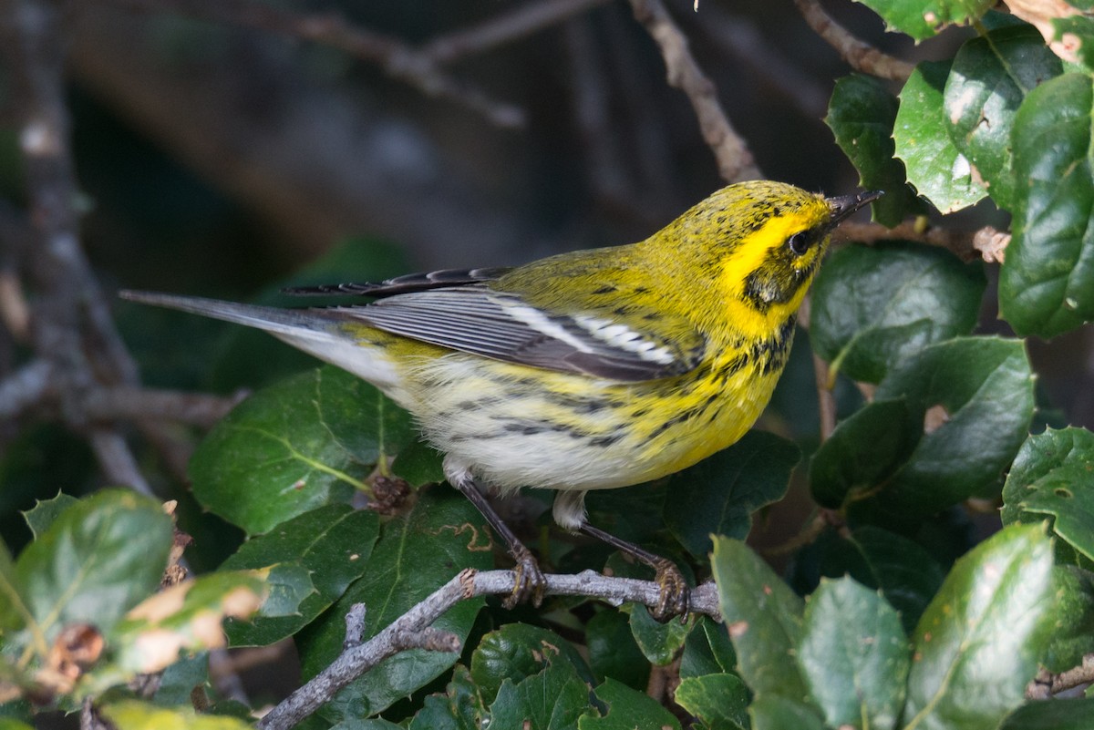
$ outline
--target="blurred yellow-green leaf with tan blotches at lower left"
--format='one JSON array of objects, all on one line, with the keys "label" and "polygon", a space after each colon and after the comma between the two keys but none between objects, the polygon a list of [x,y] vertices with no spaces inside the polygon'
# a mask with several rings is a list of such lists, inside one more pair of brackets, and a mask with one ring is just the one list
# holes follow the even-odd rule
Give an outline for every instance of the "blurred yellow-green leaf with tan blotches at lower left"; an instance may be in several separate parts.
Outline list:
[{"label": "blurred yellow-green leaf with tan blotches at lower left", "polygon": [[146,599],[113,634],[118,663],[132,674],[150,674],[174,663],[181,651],[224,646],[221,622],[254,614],[267,592],[266,578],[257,570],[218,570]]}]

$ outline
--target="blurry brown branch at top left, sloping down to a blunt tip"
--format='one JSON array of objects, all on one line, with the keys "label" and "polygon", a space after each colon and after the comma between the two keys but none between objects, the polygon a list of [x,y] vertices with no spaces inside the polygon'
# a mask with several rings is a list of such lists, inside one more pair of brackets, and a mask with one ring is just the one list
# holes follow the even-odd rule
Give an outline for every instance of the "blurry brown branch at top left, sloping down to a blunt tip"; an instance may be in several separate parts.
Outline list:
[{"label": "blurry brown branch at top left, sloping down to a blunt tip", "polygon": [[440,69],[427,55],[403,40],[382,33],[350,25],[335,13],[301,14],[254,0],[107,0],[139,12],[174,12],[200,20],[254,27],[292,38],[304,38],[338,48],[380,66],[394,79],[427,96],[461,104],[503,128],[524,125],[523,109],[491,99],[481,90],[459,81]]}]

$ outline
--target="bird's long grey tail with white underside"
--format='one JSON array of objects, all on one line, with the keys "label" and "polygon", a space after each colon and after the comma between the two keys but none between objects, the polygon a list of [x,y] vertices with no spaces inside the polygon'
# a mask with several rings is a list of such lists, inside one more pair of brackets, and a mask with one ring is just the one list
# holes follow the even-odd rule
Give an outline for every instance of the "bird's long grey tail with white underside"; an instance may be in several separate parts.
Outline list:
[{"label": "bird's long grey tail with white underside", "polygon": [[199,296],[131,290],[118,292],[118,296],[129,302],[179,309],[254,327],[310,355],[349,370],[382,390],[391,391],[399,385],[396,368],[383,352],[354,338],[345,327],[345,316],[335,314],[335,309],[279,309]]}]

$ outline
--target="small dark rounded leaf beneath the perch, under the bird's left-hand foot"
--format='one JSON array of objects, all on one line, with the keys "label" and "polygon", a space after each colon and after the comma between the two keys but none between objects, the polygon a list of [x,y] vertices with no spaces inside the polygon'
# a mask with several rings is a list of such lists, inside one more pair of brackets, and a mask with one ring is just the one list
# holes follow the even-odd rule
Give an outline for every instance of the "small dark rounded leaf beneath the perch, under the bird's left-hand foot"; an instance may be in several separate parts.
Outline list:
[{"label": "small dark rounded leaf beneath the perch, under the bird's left-hand foot", "polygon": [[520,684],[555,662],[575,668],[592,682],[593,674],[578,650],[555,632],[528,624],[505,624],[482,637],[472,655],[472,679],[492,699],[503,680]]}]

